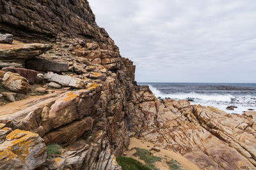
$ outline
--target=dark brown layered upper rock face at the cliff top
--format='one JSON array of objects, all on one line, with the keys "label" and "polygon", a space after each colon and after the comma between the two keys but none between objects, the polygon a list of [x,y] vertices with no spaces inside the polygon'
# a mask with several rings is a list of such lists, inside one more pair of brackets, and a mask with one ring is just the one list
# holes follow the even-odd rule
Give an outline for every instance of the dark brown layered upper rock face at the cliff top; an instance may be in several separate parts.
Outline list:
[{"label": "dark brown layered upper rock face at the cliff top", "polygon": [[0,1],[0,32],[20,38],[49,39],[68,34],[108,41],[108,33],[97,26],[87,1]]}]

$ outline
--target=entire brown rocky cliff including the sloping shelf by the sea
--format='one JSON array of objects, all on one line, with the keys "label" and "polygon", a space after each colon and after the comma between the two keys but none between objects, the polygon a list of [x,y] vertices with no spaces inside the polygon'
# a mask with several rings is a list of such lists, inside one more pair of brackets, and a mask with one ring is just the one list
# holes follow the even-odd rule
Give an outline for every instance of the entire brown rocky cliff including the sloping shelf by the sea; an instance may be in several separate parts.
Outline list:
[{"label": "entire brown rocky cliff including the sloping shelf by the sea", "polygon": [[[255,113],[159,101],[87,1],[0,0],[0,9],[0,169],[121,169],[131,137],[201,169],[255,169]],[[47,153],[51,144],[60,153]]]}]

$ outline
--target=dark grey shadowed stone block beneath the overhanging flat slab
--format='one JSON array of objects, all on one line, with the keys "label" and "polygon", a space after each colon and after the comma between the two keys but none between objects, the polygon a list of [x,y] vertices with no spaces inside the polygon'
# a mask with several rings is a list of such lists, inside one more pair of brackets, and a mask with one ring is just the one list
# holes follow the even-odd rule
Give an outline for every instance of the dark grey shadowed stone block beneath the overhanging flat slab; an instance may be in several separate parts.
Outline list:
[{"label": "dark grey shadowed stone block beneath the overhanging flat slab", "polygon": [[57,62],[35,58],[26,60],[26,68],[38,71],[55,71],[60,73],[62,71],[68,71],[68,62]]}]

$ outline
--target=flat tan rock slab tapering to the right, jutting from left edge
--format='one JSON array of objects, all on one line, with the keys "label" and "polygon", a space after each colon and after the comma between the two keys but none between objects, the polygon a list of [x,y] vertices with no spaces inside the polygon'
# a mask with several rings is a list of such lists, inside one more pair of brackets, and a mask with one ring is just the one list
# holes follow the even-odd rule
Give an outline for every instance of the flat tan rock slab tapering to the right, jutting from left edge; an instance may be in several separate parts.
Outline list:
[{"label": "flat tan rock slab tapering to the right, jutting from left edge", "polygon": [[20,62],[20,60],[35,57],[50,49],[51,45],[40,43],[0,44],[0,60],[5,62]]}]

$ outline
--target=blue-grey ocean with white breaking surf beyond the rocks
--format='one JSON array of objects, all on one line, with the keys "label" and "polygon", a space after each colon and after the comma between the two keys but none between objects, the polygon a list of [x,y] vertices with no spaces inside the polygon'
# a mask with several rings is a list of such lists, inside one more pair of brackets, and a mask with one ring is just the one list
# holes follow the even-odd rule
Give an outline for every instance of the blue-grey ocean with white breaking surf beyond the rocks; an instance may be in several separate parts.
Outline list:
[{"label": "blue-grey ocean with white breaking surf beyond the rocks", "polygon": [[[190,99],[190,103],[214,106],[227,113],[256,111],[256,83],[138,83],[149,85],[156,97]],[[236,106],[227,110],[228,106]]]}]

